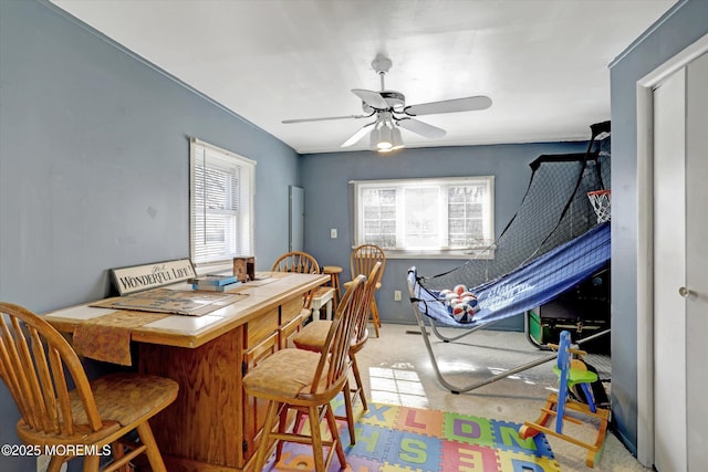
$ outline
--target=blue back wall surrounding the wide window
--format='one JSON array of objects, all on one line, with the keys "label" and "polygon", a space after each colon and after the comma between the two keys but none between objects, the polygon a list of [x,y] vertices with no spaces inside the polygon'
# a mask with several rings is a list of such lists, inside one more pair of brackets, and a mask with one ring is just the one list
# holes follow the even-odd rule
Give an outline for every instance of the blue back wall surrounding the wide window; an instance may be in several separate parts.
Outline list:
[{"label": "blue back wall surrounding the wide window", "polygon": [[[590,127],[587,135],[590,137]],[[586,147],[587,143],[579,141],[417,148],[384,156],[372,151],[304,155],[305,251],[313,254],[321,265],[342,266],[342,282],[351,279],[350,180],[493,175],[494,225],[496,235],[499,235],[527,190],[531,177],[529,164],[542,154],[584,153]],[[337,239],[330,239],[331,228],[337,229]],[[406,273],[410,265],[416,265],[420,275],[436,275],[462,262],[388,259],[382,287],[376,295],[382,319],[415,323],[410,304],[406,301]],[[403,302],[394,302],[396,290],[403,292]],[[499,323],[494,328],[519,329],[522,326],[518,317]]]}]

